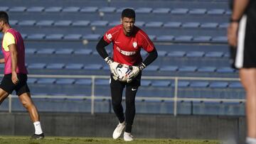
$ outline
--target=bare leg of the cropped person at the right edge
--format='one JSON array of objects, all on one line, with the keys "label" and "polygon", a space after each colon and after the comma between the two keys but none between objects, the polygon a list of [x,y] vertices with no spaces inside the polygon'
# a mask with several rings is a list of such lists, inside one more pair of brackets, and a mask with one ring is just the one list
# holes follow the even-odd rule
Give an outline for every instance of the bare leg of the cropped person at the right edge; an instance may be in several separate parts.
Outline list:
[{"label": "bare leg of the cropped person at the right edge", "polygon": [[256,69],[241,69],[240,79],[246,92],[247,136],[256,138]]}]

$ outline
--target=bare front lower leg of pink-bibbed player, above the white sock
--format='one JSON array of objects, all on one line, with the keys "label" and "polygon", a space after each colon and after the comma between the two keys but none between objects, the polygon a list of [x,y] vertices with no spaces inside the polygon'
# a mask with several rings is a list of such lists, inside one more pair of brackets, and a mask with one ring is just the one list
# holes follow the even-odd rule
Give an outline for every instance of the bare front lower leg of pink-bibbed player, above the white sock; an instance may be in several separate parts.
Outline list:
[{"label": "bare front lower leg of pink-bibbed player, above the white sock", "polygon": [[39,121],[38,111],[36,106],[33,104],[30,93],[24,93],[18,96],[21,101],[21,104],[28,110],[28,113],[31,117],[31,121],[36,122]]}]

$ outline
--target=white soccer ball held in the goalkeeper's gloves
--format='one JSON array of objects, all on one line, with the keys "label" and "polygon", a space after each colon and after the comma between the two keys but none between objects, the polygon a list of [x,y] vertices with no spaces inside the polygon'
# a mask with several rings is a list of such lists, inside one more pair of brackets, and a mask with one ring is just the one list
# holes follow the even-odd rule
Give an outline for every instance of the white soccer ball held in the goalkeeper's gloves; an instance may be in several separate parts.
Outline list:
[{"label": "white soccer ball held in the goalkeeper's gloves", "polygon": [[128,74],[132,72],[132,69],[129,65],[118,65],[117,66],[117,74],[119,75],[118,80],[120,82],[126,82],[128,78]]}]

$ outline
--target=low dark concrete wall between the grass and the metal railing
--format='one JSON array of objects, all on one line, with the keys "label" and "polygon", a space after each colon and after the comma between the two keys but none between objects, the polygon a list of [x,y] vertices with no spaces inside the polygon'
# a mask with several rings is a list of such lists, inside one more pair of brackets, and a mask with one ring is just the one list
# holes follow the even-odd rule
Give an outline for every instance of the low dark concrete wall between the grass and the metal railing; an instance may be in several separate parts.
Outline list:
[{"label": "low dark concrete wall between the grass and the metal railing", "polygon": [[[110,113],[41,113],[45,135],[112,137],[117,118]],[[137,114],[135,138],[245,139],[245,118],[227,116],[170,116]],[[0,113],[1,135],[32,135],[28,113]],[[234,142],[230,142],[234,143]]]}]

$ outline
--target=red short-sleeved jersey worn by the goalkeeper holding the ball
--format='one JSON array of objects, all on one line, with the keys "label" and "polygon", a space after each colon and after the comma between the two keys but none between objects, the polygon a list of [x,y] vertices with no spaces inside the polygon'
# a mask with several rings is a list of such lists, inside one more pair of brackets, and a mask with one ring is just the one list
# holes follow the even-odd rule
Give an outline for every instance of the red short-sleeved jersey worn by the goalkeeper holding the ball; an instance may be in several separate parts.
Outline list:
[{"label": "red short-sleeved jersey worn by the goalkeeper holding the ball", "polygon": [[114,26],[104,35],[107,43],[113,44],[113,60],[126,65],[138,65],[142,62],[140,50],[146,52],[154,50],[154,44],[137,26],[134,26],[132,35],[124,35],[122,25]]}]

